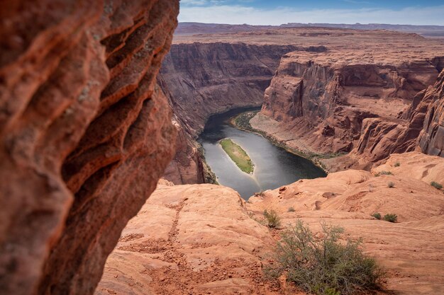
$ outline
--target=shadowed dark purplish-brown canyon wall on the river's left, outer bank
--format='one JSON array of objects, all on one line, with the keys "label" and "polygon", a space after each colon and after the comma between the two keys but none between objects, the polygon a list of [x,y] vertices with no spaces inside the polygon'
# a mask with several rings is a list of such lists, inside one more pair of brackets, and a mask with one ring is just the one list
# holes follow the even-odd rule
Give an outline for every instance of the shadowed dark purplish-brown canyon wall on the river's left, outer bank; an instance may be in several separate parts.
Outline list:
[{"label": "shadowed dark purplish-brown canyon wall on the river's left, outer bank", "polygon": [[195,139],[210,115],[259,106],[282,54],[322,50],[293,45],[211,42],[174,44],[160,71],[179,130],[177,154],[165,178],[175,184],[204,183],[205,164]]}]

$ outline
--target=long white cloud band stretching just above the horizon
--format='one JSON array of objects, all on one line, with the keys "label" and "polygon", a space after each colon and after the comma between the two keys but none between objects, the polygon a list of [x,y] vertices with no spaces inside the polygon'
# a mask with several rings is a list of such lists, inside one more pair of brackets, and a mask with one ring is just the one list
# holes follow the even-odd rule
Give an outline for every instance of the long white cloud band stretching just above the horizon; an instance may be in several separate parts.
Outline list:
[{"label": "long white cloud band stretching just above the horizon", "polygon": [[[182,0],[204,1],[204,0]],[[210,0],[211,1],[211,0]],[[199,23],[248,23],[250,25],[280,25],[282,23],[389,23],[411,25],[444,25],[444,6],[409,7],[400,10],[385,8],[258,9],[249,6],[181,6],[179,21]]]}]

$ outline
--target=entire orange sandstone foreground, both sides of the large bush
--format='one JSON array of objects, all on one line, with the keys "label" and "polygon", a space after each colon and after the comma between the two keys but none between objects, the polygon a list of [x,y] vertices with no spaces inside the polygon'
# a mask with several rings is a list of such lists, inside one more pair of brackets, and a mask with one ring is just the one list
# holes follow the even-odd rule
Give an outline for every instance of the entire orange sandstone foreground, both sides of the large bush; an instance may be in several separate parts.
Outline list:
[{"label": "entire orange sandstone foreground, both sides of the large bush", "polygon": [[[248,202],[228,187],[160,180],[123,231],[96,294],[299,294],[262,272],[279,233],[297,219],[314,232],[327,221],[343,226],[347,239],[362,238],[387,270],[382,294],[442,294],[444,193],[430,183],[444,183],[443,170],[444,158],[394,154],[371,173],[299,180]],[[392,175],[376,176],[381,171]],[[264,209],[279,213],[282,228],[256,221]],[[398,222],[374,212],[397,214]]]}]

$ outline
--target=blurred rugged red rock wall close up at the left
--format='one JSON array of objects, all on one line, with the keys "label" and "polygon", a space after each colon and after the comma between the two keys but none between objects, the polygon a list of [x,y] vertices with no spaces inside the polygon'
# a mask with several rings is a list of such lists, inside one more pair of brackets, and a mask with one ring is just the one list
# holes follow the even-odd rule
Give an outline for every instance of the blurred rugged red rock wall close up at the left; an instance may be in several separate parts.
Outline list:
[{"label": "blurred rugged red rock wall close up at the left", "polygon": [[175,136],[178,1],[1,4],[0,289],[92,294]]}]

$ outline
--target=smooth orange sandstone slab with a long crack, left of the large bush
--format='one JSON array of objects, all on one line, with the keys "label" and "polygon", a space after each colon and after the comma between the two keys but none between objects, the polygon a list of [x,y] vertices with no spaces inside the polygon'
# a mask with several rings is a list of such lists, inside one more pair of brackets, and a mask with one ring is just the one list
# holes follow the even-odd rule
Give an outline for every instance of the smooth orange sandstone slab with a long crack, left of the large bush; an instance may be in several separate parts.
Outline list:
[{"label": "smooth orange sandstone slab with a long crack, left of the large bush", "polygon": [[96,294],[280,294],[262,274],[270,245],[230,188],[160,185],[123,231]]}]

